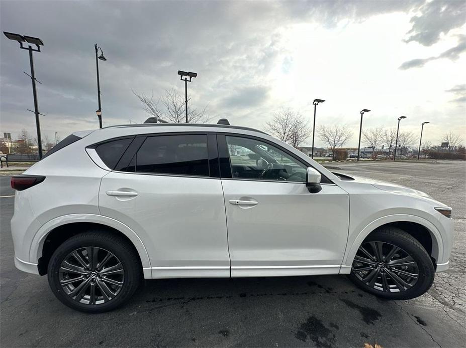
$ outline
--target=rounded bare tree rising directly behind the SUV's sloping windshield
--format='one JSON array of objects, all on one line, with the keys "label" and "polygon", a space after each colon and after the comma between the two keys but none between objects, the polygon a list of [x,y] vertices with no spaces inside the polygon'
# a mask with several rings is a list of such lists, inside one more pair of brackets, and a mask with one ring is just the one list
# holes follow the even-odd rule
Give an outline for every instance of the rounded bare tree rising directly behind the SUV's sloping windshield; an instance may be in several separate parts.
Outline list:
[{"label": "rounded bare tree rising directly behind the SUV's sloping windshield", "polygon": [[299,112],[283,108],[267,122],[267,130],[294,147],[301,145],[311,135],[308,122]]}]

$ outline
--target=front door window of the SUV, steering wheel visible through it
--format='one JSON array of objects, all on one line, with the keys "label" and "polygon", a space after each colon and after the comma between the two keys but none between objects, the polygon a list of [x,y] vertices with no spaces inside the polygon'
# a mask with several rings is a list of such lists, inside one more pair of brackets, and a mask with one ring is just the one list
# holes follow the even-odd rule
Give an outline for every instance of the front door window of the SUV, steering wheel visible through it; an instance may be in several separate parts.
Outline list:
[{"label": "front door window of the SUV, steering wheel visible through it", "polygon": [[233,178],[304,182],[306,166],[268,143],[226,136]]}]

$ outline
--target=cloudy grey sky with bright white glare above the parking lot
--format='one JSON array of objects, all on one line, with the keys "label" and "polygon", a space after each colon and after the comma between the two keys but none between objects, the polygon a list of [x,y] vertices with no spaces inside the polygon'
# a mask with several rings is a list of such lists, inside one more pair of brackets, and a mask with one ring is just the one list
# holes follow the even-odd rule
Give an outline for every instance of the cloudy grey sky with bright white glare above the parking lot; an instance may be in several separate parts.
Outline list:
[{"label": "cloudy grey sky with bright white glare above the parking lot", "polygon": [[[466,2],[455,1],[0,1],[2,31],[40,37],[34,55],[41,127],[63,138],[98,126],[94,44],[104,126],[147,115],[132,90],[183,92],[211,120],[264,129],[282,107],[317,125],[396,127],[437,144],[466,141]],[[0,132],[35,134],[27,51],[0,40]],[[309,144],[309,141],[307,142]],[[322,145],[317,141],[317,145]]]}]

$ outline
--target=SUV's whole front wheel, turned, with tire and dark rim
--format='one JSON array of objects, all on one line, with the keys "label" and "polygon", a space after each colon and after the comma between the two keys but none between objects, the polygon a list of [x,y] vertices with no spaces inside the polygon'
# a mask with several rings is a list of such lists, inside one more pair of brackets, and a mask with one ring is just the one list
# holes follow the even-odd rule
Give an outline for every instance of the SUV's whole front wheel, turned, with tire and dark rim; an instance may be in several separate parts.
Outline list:
[{"label": "SUV's whole front wheel, turned, with tire and dark rim", "polygon": [[379,297],[407,300],[429,290],[434,275],[432,260],[421,243],[403,230],[384,227],[362,242],[349,278],[360,289]]}]

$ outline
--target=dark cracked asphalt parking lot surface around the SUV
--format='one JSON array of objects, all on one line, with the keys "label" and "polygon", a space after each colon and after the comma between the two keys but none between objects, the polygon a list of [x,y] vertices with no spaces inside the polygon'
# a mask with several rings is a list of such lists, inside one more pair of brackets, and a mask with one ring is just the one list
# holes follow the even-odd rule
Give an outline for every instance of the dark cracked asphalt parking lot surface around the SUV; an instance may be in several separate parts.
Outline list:
[{"label": "dark cracked asphalt parking lot surface around the SUV", "polygon": [[[333,164],[333,163],[332,163]],[[345,276],[151,280],[121,309],[83,314],[46,277],[13,264],[9,177],[0,177],[0,345],[316,346],[466,345],[466,162],[335,163],[342,172],[424,191],[453,208],[450,269],[429,292],[385,301]]]}]

